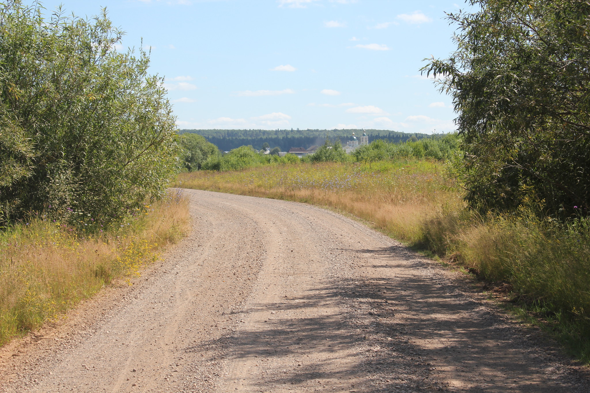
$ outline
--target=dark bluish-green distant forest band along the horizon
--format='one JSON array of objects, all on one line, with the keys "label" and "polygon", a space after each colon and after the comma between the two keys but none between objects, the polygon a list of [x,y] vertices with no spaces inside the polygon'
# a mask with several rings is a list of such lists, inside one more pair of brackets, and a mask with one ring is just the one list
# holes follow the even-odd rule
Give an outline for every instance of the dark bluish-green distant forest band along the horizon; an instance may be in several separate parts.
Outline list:
[{"label": "dark bluish-green distant forest band along the horizon", "polygon": [[195,133],[205,137],[221,151],[230,151],[240,146],[252,145],[257,150],[263,143],[268,143],[271,148],[280,147],[281,151],[289,151],[291,147],[309,148],[313,145],[323,144],[326,137],[339,138],[342,143],[352,139],[352,133],[361,136],[366,133],[369,141],[383,139],[392,143],[405,142],[412,136],[417,139],[429,137],[428,134],[399,133],[389,130],[179,130],[179,134]]}]

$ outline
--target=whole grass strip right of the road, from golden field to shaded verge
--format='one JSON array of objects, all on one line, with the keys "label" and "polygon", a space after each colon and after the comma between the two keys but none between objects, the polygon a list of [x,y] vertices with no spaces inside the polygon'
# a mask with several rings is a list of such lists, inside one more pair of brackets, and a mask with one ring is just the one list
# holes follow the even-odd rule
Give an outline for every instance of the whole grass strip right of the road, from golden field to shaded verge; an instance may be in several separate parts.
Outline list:
[{"label": "whole grass strip right of the road, from golden field to shaded verge", "polygon": [[436,160],[299,163],[182,173],[176,187],[331,207],[417,249],[460,263],[509,305],[590,362],[590,221],[527,211],[481,217]]}]

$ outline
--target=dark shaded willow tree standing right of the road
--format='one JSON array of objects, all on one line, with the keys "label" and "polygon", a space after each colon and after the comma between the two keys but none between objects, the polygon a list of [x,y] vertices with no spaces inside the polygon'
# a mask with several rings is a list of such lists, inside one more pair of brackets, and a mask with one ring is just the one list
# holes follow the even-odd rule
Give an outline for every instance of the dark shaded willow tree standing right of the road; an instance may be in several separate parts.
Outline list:
[{"label": "dark shaded willow tree standing right of the road", "polygon": [[472,0],[457,51],[431,59],[464,137],[466,199],[483,212],[590,207],[590,3]]}]

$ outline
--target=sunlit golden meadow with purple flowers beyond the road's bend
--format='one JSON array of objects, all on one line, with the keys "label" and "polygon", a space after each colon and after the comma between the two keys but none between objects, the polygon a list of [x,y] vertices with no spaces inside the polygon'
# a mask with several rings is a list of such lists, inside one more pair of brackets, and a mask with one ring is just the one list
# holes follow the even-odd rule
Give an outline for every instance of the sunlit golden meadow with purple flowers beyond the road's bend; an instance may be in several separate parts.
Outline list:
[{"label": "sunlit golden meadow with purple flowers beyond the road's bend", "polygon": [[421,241],[425,220],[445,209],[463,207],[454,181],[434,160],[195,171],[180,174],[175,186],[329,206],[372,222],[407,243]]}]

